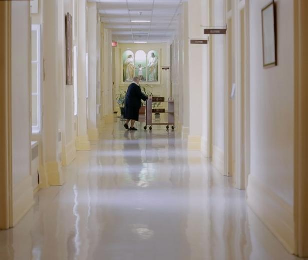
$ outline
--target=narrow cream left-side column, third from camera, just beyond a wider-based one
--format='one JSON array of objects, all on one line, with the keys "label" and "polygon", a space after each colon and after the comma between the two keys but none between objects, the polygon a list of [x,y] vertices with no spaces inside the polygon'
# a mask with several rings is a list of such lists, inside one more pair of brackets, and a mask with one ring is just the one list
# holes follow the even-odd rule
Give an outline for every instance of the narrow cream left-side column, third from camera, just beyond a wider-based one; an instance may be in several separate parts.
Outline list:
[{"label": "narrow cream left-side column, third from camera, just beyond a wider-based one", "polygon": [[89,129],[88,135],[90,141],[99,139],[96,122],[96,88],[97,88],[97,6],[96,2],[88,3],[88,65],[89,65]]}]

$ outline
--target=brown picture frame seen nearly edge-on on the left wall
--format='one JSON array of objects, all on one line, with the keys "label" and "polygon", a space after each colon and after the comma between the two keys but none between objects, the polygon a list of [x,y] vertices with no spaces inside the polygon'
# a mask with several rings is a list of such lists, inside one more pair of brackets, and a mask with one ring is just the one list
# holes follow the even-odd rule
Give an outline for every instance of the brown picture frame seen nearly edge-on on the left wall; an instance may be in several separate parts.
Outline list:
[{"label": "brown picture frame seen nearly edge-on on the left wall", "polygon": [[66,84],[73,85],[73,38],[72,15],[65,15],[65,55],[66,55]]}]

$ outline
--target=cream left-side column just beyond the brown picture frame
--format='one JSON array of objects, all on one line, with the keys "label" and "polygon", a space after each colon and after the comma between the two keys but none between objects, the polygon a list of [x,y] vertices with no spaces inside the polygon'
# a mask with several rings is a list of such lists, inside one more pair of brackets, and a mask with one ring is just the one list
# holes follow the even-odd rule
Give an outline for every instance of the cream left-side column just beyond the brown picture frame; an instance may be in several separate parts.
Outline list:
[{"label": "cream left-side column just beyond the brown picture frame", "polygon": [[86,99],[86,0],[78,0],[78,130],[77,150],[90,150]]}]

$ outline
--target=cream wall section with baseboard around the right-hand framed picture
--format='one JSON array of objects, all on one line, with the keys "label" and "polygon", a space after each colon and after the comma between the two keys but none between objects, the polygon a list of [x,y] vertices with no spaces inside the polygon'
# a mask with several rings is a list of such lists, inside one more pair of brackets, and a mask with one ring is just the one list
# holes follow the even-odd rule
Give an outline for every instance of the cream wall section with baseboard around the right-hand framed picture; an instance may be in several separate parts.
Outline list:
[{"label": "cream wall section with baseboard around the right-hand framed picture", "polygon": [[[251,168],[248,202],[294,250],[294,2],[278,0],[278,65],[263,68],[261,9],[250,1]],[[287,18],[286,18],[287,17]],[[274,206],[273,206],[274,205]]]}]

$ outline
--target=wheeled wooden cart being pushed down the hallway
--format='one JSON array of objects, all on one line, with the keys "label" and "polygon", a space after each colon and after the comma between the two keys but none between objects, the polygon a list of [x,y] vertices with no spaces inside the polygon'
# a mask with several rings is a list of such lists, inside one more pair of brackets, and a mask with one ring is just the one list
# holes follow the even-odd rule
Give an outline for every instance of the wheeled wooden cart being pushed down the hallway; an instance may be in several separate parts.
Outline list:
[{"label": "wheeled wooden cart being pushed down the hallway", "polygon": [[[153,114],[156,111],[153,111],[152,109],[152,104],[154,102],[159,102],[159,103],[167,103],[168,108],[167,111],[164,112],[159,112],[159,113],[165,113],[168,114],[168,121],[167,122],[153,122]],[[147,129],[147,126],[150,126],[149,129],[152,130],[153,125],[166,125],[166,129],[169,129],[169,125],[171,126],[171,129],[174,130],[174,100],[172,98],[169,98],[168,101],[155,101],[155,99],[149,99],[146,101],[146,119],[145,119],[145,126],[144,129]]]}]

